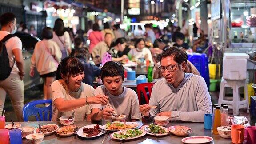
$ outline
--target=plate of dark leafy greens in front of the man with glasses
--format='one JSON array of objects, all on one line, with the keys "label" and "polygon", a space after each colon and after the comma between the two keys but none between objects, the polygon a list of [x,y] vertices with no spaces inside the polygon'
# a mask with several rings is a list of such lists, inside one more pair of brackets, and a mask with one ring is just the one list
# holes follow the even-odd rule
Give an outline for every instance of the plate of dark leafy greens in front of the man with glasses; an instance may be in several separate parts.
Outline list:
[{"label": "plate of dark leafy greens in front of the man with glasses", "polygon": [[[140,129],[144,130],[145,127],[148,127],[151,132],[155,133],[156,135],[158,136],[165,136],[165,135],[168,135],[170,133],[170,131],[168,130],[168,128],[165,128],[163,126],[160,126],[160,125],[156,125],[156,124],[148,124],[148,125],[144,125],[142,126]],[[152,133],[150,132],[147,132],[149,135],[153,135]]]}]

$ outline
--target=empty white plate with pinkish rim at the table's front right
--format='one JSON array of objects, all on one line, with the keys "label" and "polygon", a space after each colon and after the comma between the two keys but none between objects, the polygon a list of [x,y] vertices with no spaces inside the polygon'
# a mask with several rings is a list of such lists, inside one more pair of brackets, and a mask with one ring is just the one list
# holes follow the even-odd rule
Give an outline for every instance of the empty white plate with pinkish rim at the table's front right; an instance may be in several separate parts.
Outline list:
[{"label": "empty white plate with pinkish rim at the table's front right", "polygon": [[204,143],[211,142],[212,140],[213,138],[209,136],[190,136],[190,137],[181,139],[181,141],[186,144],[204,144]]}]

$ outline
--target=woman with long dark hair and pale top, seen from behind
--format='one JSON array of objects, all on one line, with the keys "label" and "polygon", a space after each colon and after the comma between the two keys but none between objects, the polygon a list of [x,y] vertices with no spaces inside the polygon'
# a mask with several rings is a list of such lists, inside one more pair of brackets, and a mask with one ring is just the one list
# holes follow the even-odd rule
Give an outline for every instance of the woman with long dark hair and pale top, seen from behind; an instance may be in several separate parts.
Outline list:
[{"label": "woman with long dark hair and pale top, seen from behind", "polygon": [[62,53],[61,59],[64,59],[71,53],[70,36],[69,33],[64,30],[64,28],[64,22],[62,19],[59,18],[55,20],[52,40],[55,41],[60,47],[60,51]]}]

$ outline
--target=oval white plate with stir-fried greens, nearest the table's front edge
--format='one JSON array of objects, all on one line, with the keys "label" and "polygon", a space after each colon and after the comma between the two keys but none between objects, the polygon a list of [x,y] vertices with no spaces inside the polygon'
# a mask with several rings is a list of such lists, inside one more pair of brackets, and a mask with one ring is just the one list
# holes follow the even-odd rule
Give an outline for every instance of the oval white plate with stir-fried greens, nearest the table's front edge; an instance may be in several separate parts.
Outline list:
[{"label": "oval white plate with stir-fried greens, nearest the table's front edge", "polygon": [[127,129],[127,130],[113,132],[110,135],[110,137],[116,140],[131,140],[141,136],[145,136],[146,134],[147,134],[146,131],[142,129],[134,128],[134,129]]}]

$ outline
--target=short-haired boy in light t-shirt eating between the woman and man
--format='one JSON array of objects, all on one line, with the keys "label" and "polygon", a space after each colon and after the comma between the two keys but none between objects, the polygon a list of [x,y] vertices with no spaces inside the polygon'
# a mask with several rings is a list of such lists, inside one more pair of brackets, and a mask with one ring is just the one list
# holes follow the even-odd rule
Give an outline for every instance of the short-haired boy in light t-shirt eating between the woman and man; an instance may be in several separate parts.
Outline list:
[{"label": "short-haired boy in light t-shirt eating between the woman and man", "polygon": [[95,95],[108,96],[108,102],[113,109],[100,104],[92,104],[91,120],[110,119],[115,110],[117,114],[126,115],[126,121],[139,121],[139,100],[135,91],[124,87],[124,67],[117,62],[109,61],[100,70],[104,85],[95,89]]}]

